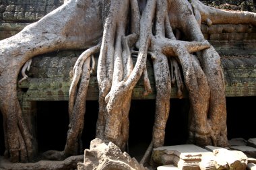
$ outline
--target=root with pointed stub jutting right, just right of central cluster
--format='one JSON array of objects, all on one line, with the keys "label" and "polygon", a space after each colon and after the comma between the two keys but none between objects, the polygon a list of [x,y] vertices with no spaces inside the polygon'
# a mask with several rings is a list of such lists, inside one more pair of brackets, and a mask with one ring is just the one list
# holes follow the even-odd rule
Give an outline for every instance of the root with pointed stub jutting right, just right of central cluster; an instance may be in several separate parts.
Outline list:
[{"label": "root with pointed stub jutting right, just right of central cluster", "polygon": [[[152,6],[151,13],[153,15],[152,18],[156,19],[156,21],[153,27],[150,26],[149,50],[151,58],[153,60],[154,77],[156,81],[156,115],[153,127],[152,144],[150,144],[148,149],[156,148],[164,144],[165,127],[170,110],[171,89],[170,69],[168,67],[167,56],[179,57],[179,51],[185,52],[189,55],[189,52],[197,52],[199,50],[203,50],[205,48],[210,47],[210,44],[207,41],[185,42],[176,40],[172,32],[170,22],[168,20],[167,1],[156,0],[154,1],[154,4],[155,5]],[[150,24],[151,23],[152,22],[150,22]],[[179,69],[176,60],[172,60],[172,69],[174,69],[173,67],[175,69]],[[189,65],[187,65],[187,67],[189,67]],[[172,72],[172,78],[176,77],[181,93],[182,80],[181,75],[180,73],[178,73],[178,71],[179,70],[176,70],[175,75]],[[187,74],[193,75],[195,73],[190,72]],[[143,157],[144,160],[146,160],[149,157],[149,155],[150,154],[146,152]]]}]

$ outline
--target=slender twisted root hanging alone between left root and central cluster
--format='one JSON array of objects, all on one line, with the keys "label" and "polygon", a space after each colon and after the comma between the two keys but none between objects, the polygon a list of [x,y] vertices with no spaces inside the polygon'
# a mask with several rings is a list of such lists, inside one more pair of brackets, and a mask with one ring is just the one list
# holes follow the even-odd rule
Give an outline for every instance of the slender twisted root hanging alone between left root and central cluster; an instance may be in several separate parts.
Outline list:
[{"label": "slender twisted root hanging alone between left root and central cluster", "polygon": [[[100,44],[83,52],[75,62],[73,80],[69,90],[69,130],[64,149],[65,157],[77,155],[82,148],[81,136],[84,129],[84,114],[86,112],[86,94],[90,81],[90,60],[94,53],[100,50]],[[78,80],[81,78],[76,93]]]}]

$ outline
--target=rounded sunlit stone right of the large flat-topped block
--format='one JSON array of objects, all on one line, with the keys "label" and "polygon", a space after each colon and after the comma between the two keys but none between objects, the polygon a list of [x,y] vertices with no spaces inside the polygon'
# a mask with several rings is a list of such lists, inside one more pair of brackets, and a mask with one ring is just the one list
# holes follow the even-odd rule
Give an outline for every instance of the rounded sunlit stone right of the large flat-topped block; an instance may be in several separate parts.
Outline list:
[{"label": "rounded sunlit stone right of the large flat-topped block", "polygon": [[218,169],[228,169],[229,167],[229,169],[245,170],[247,167],[247,156],[241,151],[229,151],[226,148],[220,148],[214,150],[214,155],[217,161],[223,160],[228,163],[228,166],[220,165]]}]

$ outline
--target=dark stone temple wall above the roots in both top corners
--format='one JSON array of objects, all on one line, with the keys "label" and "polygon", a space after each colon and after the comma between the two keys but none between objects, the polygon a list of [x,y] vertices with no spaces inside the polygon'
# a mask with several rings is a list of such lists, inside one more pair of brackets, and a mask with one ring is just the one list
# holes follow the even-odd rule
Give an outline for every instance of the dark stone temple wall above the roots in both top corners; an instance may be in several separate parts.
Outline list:
[{"label": "dark stone temple wall above the roots in both top corners", "polygon": [[[67,0],[0,0],[0,40],[13,36]],[[201,0],[219,9],[254,11],[253,0]]]}]

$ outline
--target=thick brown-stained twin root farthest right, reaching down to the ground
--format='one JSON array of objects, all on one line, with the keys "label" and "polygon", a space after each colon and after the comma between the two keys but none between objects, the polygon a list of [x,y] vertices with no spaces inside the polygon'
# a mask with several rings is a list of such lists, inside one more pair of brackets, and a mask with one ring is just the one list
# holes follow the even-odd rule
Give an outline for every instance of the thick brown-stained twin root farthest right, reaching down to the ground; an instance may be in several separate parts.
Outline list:
[{"label": "thick brown-stained twin root farthest right, reaching down to the ground", "polygon": [[[185,1],[174,1],[173,5],[183,6],[183,8],[181,10],[170,9],[172,15],[179,16],[177,20],[170,18],[170,23],[172,27],[179,28],[184,36],[190,40],[203,42],[204,38],[198,22],[206,22],[206,20],[198,19],[197,15],[201,15],[201,18],[205,17],[205,15],[203,13],[195,13],[194,3],[196,1],[191,1],[194,7],[194,13],[190,4]],[[206,12],[210,10],[212,9],[207,8]],[[184,25],[177,22],[179,19],[185,19],[183,22],[189,24]],[[211,20],[213,23],[216,23],[216,20]],[[223,20],[222,22],[224,23],[226,21]],[[226,146],[227,138],[226,134],[224,134],[226,132],[226,101],[220,67],[220,56],[211,46],[202,52],[197,52],[197,58],[189,56],[189,54],[179,55],[191,100],[189,140],[199,145],[214,144],[217,146]],[[192,74],[189,76],[188,73]]]}]

